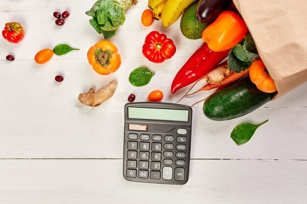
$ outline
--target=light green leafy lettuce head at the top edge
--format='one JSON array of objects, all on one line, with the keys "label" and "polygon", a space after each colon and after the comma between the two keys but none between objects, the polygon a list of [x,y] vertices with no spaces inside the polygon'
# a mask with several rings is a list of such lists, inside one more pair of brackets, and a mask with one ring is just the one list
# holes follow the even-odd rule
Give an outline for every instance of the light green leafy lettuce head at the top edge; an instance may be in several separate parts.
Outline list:
[{"label": "light green leafy lettuce head at the top edge", "polygon": [[136,0],[98,0],[85,14],[93,18],[90,24],[95,30],[108,39],[125,22],[125,10],[136,3]]}]

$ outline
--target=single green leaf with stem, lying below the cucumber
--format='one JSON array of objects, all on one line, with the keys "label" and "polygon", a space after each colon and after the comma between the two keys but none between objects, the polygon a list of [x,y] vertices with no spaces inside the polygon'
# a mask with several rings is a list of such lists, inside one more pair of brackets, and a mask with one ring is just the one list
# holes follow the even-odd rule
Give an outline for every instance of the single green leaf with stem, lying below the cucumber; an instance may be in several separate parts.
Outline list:
[{"label": "single green leaf with stem, lying below the cucumber", "polygon": [[240,145],[248,142],[252,136],[254,135],[256,129],[266,123],[269,120],[266,120],[258,125],[254,125],[252,123],[242,123],[240,125],[237,125],[231,132],[230,137],[233,139],[233,141]]}]

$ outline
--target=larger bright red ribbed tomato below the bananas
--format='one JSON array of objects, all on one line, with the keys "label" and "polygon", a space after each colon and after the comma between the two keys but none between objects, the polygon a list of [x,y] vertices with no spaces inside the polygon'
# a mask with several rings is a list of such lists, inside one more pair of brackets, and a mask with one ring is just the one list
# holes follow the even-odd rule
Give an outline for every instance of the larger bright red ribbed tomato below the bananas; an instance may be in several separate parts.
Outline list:
[{"label": "larger bright red ribbed tomato below the bananas", "polygon": [[173,41],[158,31],[152,31],[146,36],[142,48],[144,57],[154,63],[162,63],[164,60],[170,59],[175,52],[176,46]]}]

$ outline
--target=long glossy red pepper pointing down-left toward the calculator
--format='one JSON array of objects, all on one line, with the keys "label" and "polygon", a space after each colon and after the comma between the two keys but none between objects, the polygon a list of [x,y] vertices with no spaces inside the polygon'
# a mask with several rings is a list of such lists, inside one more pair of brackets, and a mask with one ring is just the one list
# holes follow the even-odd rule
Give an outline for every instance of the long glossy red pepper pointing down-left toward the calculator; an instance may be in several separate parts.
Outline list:
[{"label": "long glossy red pepper pointing down-left toward the calculator", "polygon": [[172,93],[200,79],[225,59],[229,51],[214,52],[204,43],[176,74],[171,87]]}]

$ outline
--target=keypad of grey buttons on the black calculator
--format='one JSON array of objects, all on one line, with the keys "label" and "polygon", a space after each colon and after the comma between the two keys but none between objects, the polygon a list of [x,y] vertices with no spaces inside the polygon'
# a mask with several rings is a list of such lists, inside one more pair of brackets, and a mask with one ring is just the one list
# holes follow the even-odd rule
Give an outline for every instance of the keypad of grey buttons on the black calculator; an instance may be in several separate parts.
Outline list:
[{"label": "keypad of grey buttons on the black calculator", "polygon": [[[176,134],[177,133],[177,134]],[[146,180],[184,181],[188,164],[186,129],[174,135],[127,135],[126,177]],[[188,169],[187,169],[188,170]],[[154,182],[154,181],[152,181]],[[158,181],[157,181],[158,182]]]}]

